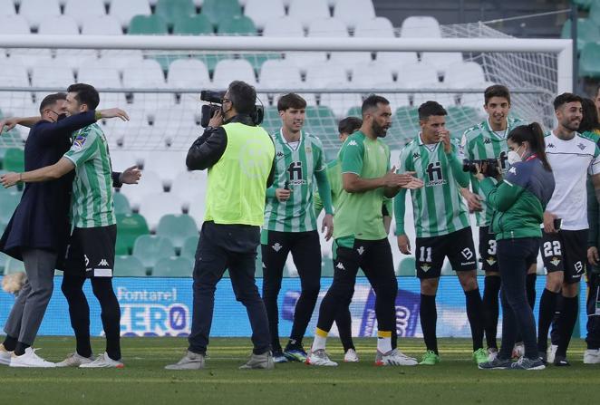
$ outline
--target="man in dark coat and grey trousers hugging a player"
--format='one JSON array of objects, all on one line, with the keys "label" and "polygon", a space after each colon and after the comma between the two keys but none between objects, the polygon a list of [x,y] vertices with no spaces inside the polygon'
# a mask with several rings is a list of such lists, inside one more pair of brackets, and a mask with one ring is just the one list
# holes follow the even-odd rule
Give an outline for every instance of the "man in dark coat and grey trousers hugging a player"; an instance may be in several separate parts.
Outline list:
[{"label": "man in dark coat and grey trousers hugging a player", "polygon": [[[101,118],[119,117],[125,111],[110,109],[65,116],[65,93],[50,94],[40,104],[40,117],[0,121],[3,127],[31,126],[25,142],[25,170],[56,163],[71,148],[71,134]],[[137,183],[135,167],[113,172],[115,187]],[[0,344],[0,364],[18,367],[53,367],[31,349],[53,293],[55,268],[63,267],[63,256],[70,233],[69,207],[73,174],[43,183],[25,185],[23,197],[0,238],[0,251],[24,261],[27,282],[5,324],[5,342]],[[13,353],[11,353],[13,352]]]}]

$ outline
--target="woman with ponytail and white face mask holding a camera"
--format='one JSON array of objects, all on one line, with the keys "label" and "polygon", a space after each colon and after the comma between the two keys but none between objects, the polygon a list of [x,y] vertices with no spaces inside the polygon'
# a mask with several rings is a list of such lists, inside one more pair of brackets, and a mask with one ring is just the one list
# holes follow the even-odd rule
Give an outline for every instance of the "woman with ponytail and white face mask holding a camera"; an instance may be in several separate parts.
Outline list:
[{"label": "woman with ponytail and white face mask holding a camera", "polygon": [[[540,224],[552,197],[555,180],[547,161],[544,133],[537,122],[521,125],[508,134],[508,169],[504,180],[494,186],[480,168],[476,177],[494,209],[490,231],[496,234],[498,268],[502,282],[502,346],[498,357],[479,364],[483,370],[543,370],[537,354],[536,323],[527,303],[526,277],[529,263],[537,257]],[[498,176],[499,179],[499,176]],[[510,362],[517,333],[523,337],[525,355]]]}]

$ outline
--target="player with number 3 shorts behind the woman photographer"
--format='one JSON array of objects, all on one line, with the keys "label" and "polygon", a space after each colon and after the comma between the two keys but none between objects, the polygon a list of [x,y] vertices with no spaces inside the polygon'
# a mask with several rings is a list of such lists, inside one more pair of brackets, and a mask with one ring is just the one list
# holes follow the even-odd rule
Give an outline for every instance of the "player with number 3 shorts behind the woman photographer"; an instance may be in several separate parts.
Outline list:
[{"label": "player with number 3 shorts behind the woman photographer", "polygon": [[[522,121],[508,117],[510,112],[510,92],[506,86],[495,84],[484,92],[483,108],[488,113],[486,121],[466,130],[460,143],[460,157],[469,160],[497,159],[502,173],[508,169],[507,135],[513,128],[523,124]],[[489,360],[498,355],[498,294],[500,292],[500,274],[498,256],[496,256],[496,239],[489,232],[489,222],[493,208],[485,201],[479,181],[471,175],[471,188],[462,188],[460,194],[467,200],[469,211],[475,212],[479,227],[479,260],[485,271],[483,291],[484,329],[488,344]],[[527,274],[527,301],[533,308],[536,300],[536,265],[530,264]],[[521,347],[521,345],[516,346]]]}]

